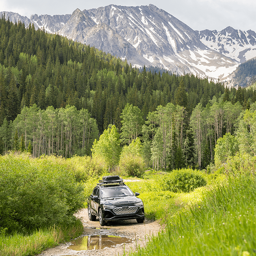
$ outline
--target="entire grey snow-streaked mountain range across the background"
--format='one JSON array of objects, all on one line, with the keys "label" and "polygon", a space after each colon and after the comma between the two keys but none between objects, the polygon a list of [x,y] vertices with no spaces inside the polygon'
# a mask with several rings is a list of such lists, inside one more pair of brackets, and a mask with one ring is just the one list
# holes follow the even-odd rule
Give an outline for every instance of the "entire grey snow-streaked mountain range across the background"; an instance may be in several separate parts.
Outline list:
[{"label": "entire grey snow-streaked mountain range across the background", "polygon": [[[5,14],[14,22],[28,19]],[[30,20],[35,28],[44,27],[50,33],[58,31],[70,39],[126,58],[134,66],[156,66],[178,74],[193,72],[225,80],[241,62],[256,56],[256,35],[251,30],[242,33],[228,27],[222,32],[194,31],[151,4],[76,9],[67,15],[32,15]]]}]

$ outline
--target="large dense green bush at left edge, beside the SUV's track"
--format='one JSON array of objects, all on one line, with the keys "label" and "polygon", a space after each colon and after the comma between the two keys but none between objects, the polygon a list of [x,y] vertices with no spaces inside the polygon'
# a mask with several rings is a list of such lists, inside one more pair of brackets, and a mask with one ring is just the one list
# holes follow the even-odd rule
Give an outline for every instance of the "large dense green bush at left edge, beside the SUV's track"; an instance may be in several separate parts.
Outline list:
[{"label": "large dense green bush at left edge, beside the SUV's track", "polygon": [[74,221],[83,207],[83,186],[55,159],[0,156],[0,226],[7,232]]}]

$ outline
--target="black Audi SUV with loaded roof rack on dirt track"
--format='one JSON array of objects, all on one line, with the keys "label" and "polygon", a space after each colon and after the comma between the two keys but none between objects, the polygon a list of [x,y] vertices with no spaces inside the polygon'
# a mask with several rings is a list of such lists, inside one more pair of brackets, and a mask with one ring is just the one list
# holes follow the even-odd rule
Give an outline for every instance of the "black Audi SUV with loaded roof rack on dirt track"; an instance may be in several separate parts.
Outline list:
[{"label": "black Audi SUV with loaded roof rack on dirt track", "polygon": [[145,220],[144,205],[119,176],[104,176],[93,189],[87,200],[90,221],[98,217],[100,225],[108,221],[136,219],[138,223]]}]

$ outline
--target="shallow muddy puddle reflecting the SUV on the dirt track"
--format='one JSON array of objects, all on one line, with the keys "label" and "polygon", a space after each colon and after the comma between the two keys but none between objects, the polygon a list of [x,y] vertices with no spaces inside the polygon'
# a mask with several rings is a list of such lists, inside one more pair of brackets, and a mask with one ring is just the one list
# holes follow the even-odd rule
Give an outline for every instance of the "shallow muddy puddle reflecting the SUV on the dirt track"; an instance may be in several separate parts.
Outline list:
[{"label": "shallow muddy puddle reflecting the SUV on the dirt track", "polygon": [[131,243],[132,240],[120,236],[83,236],[74,241],[68,247],[70,250],[98,250],[105,247],[111,248],[121,243]]}]

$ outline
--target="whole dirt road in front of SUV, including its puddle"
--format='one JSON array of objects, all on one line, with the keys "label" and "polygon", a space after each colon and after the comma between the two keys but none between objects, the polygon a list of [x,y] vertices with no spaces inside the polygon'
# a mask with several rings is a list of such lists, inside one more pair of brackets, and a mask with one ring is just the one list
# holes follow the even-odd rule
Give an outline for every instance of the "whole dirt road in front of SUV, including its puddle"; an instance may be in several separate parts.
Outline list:
[{"label": "whole dirt road in front of SUV, including its puddle", "polygon": [[124,250],[136,250],[136,246],[145,246],[148,238],[161,230],[157,221],[145,220],[138,224],[136,220],[109,222],[100,226],[98,221],[90,221],[87,209],[81,210],[77,217],[83,222],[83,234],[80,238],[47,249],[38,256],[115,256]]}]

